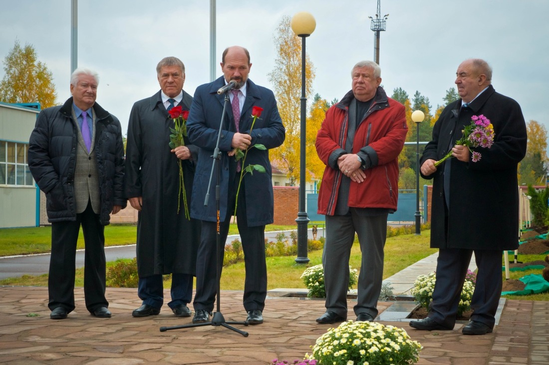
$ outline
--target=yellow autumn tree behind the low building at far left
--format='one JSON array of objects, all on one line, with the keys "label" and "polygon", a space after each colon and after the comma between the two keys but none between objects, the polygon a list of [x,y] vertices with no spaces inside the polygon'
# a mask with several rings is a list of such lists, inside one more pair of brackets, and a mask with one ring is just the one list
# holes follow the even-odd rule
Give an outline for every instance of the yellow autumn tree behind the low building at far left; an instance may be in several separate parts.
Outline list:
[{"label": "yellow autumn tree behind the low building at far left", "polygon": [[52,72],[37,61],[36,50],[25,44],[21,48],[15,41],[13,49],[4,59],[5,75],[0,82],[0,101],[40,102],[42,109],[54,106],[57,95]]}]

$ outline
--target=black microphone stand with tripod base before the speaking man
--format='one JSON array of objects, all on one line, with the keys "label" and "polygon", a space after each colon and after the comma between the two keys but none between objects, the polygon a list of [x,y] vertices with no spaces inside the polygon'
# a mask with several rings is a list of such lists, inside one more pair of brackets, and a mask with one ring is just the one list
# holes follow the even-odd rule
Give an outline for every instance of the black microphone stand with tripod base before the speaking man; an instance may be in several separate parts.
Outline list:
[{"label": "black microphone stand with tripod base before the speaking man", "polygon": [[[221,256],[221,234],[220,234],[220,217],[219,217],[219,206],[220,206],[220,188],[219,188],[219,182],[220,182],[220,160],[221,160],[221,152],[219,151],[219,141],[221,140],[221,132],[223,130],[223,123],[225,122],[225,112],[227,110],[227,104],[229,103],[229,94],[227,89],[225,91],[225,102],[223,103],[223,113],[221,115],[221,123],[219,124],[219,132],[217,133],[217,142],[214,149],[214,154],[211,156],[213,161],[211,165],[211,172],[210,172],[210,181],[208,183],[208,190],[206,192],[206,196],[204,198],[204,206],[208,206],[208,201],[210,198],[210,188],[212,180],[214,179],[214,171],[217,175],[217,185],[215,186],[215,202],[216,202],[216,217],[217,217],[217,225],[216,225],[216,237],[215,237],[215,243],[216,243],[216,276],[217,276],[217,300],[216,300],[216,309],[217,311],[214,313],[214,316],[211,318],[211,322],[203,322],[203,323],[189,323],[189,324],[183,324],[182,326],[172,326],[172,327],[160,327],[160,332],[165,332],[167,330],[171,329],[180,329],[180,328],[193,328],[193,327],[202,327],[202,326],[215,326],[215,327],[225,327],[228,329],[233,330],[234,332],[238,332],[244,337],[248,337],[248,332],[245,332],[243,330],[240,330],[238,328],[234,328],[230,326],[231,324],[242,324],[243,326],[248,326],[248,321],[245,322],[227,322],[225,321],[225,317],[223,317],[221,313],[221,304],[220,304],[220,296],[221,296],[221,265],[223,263],[220,263],[220,256]],[[225,249],[225,248],[223,248]]]}]

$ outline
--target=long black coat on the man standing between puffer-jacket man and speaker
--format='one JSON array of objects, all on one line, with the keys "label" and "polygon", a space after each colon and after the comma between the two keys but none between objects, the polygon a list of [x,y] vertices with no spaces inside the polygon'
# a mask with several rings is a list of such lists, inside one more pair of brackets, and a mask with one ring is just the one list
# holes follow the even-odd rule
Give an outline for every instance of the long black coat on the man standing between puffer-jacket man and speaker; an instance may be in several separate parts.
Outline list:
[{"label": "long black coat on the man standing between puffer-jacket man and speaker", "polygon": [[[188,110],[192,96],[183,92],[181,106]],[[155,274],[195,275],[200,223],[185,218],[183,197],[177,213],[179,166],[170,152],[173,119],[162,104],[160,91],[137,101],[130,113],[126,145],[125,194],[143,197],[137,222],[137,267],[140,277]],[[183,160],[187,204],[191,208],[196,146],[185,139],[193,160]]]}]

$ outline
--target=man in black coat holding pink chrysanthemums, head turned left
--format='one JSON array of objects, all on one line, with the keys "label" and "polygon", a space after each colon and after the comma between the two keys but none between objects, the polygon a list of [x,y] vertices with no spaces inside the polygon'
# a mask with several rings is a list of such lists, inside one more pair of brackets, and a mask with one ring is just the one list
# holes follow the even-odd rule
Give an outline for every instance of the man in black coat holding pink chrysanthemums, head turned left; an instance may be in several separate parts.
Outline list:
[{"label": "man in black coat holding pink chrysanthemums, head turned left", "polygon": [[[502,287],[502,252],[518,247],[517,166],[526,154],[526,124],[517,102],[492,87],[492,70],[486,61],[463,61],[456,76],[461,99],[442,111],[421,158],[422,176],[434,178],[431,247],[439,248],[439,258],[429,315],[411,321],[410,326],[453,329],[474,252],[478,274],[471,300],[473,314],[462,332],[481,335],[494,328]],[[481,155],[473,162],[469,148],[455,143],[472,117],[481,115],[494,126],[494,144],[473,149]],[[454,158],[435,167],[450,149]]]}]

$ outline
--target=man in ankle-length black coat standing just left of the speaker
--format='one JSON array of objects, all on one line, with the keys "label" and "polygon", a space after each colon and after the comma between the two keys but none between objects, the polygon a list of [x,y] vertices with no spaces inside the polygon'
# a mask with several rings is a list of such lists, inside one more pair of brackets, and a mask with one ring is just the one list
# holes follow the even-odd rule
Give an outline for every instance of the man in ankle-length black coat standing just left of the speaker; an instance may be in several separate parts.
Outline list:
[{"label": "man in ankle-length black coat standing just left of the speaker", "polygon": [[193,99],[183,91],[185,66],[181,60],[166,57],[156,66],[156,72],[161,90],[133,105],[127,134],[125,193],[131,206],[139,211],[137,294],[143,300],[132,315],[158,315],[164,303],[162,276],[171,273],[172,300],[168,306],[176,316],[189,317],[187,304],[192,299],[200,222],[186,218],[183,197],[178,195],[177,161],[179,158],[182,162],[190,208],[198,148],[187,138],[184,146],[170,148],[174,122],[168,110],[174,106],[189,110]]}]

